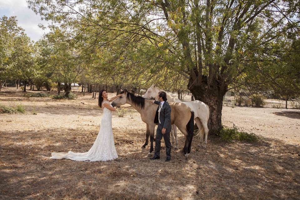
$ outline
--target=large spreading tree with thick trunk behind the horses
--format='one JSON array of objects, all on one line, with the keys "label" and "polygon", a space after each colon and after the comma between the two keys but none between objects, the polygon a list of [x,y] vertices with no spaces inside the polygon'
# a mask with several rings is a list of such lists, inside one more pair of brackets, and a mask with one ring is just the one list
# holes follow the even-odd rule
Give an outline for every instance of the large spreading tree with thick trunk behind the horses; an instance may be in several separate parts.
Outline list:
[{"label": "large spreading tree with thick trunk behind the horses", "polygon": [[[114,40],[149,41],[159,60],[188,79],[195,99],[210,108],[209,129],[222,128],[222,101],[228,86],[287,31],[299,32],[299,4],[290,0],[93,1],[28,0],[43,18],[74,31],[97,48]],[[113,33],[113,37],[110,37]],[[151,48],[149,48],[151,49]],[[259,65],[261,67],[261,65]]]}]

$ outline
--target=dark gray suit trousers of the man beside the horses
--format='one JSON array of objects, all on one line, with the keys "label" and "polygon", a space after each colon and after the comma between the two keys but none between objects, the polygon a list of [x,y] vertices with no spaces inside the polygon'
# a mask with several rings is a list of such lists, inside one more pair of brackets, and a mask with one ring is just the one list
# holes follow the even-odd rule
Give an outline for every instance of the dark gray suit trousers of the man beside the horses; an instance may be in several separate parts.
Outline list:
[{"label": "dark gray suit trousers of the man beside the horses", "polygon": [[160,157],[160,143],[161,140],[165,141],[165,145],[166,145],[166,155],[167,158],[171,158],[171,142],[170,142],[170,132],[169,133],[162,133],[162,130],[160,130],[160,128],[158,127],[156,130],[156,139],[155,139],[155,151],[154,151],[154,157]]}]

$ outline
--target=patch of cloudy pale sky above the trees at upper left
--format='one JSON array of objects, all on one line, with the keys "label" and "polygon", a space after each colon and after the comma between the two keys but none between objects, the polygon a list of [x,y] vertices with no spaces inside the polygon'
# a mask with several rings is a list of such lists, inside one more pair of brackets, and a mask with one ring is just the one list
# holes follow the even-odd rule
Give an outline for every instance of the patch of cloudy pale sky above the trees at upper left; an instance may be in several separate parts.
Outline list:
[{"label": "patch of cloudy pale sky above the trees at upper left", "polygon": [[47,22],[42,21],[39,15],[36,15],[27,7],[26,0],[0,0],[0,17],[17,16],[18,26],[25,29],[27,36],[31,40],[39,40],[44,33],[49,32],[48,29],[43,30],[38,27],[38,24],[44,24],[47,27]]}]

